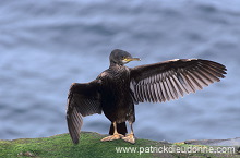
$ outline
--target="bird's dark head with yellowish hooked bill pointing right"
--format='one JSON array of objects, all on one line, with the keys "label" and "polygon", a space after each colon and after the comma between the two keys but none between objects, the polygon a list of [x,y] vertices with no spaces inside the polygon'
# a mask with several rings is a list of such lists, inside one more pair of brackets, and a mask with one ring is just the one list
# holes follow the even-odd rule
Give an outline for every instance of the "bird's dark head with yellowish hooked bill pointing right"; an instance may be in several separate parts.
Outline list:
[{"label": "bird's dark head with yellowish hooked bill pointing right", "polygon": [[109,57],[111,64],[120,64],[123,65],[125,63],[129,63],[130,61],[140,61],[140,58],[132,58],[132,56],[120,49],[115,49],[111,51],[111,54]]}]

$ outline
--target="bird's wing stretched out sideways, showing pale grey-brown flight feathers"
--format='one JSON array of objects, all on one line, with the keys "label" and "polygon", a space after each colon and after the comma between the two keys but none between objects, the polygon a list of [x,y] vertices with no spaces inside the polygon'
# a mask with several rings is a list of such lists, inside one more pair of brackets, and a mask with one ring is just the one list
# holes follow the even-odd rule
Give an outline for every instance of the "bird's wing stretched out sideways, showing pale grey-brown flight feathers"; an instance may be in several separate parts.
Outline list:
[{"label": "bird's wing stretched out sideways, showing pale grey-brown flight feathers", "polygon": [[225,65],[202,59],[176,59],[131,69],[135,104],[161,102],[195,93],[224,78]]}]

